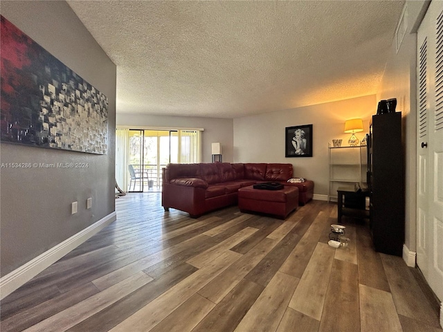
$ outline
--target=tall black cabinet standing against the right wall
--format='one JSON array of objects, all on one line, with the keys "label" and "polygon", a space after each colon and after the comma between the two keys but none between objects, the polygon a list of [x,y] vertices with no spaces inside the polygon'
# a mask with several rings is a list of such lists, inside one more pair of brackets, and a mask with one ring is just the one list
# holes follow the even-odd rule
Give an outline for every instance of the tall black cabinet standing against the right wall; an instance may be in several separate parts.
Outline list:
[{"label": "tall black cabinet standing against the right wall", "polygon": [[404,149],[401,112],[372,116],[368,142],[370,229],[378,252],[401,256],[404,244]]}]

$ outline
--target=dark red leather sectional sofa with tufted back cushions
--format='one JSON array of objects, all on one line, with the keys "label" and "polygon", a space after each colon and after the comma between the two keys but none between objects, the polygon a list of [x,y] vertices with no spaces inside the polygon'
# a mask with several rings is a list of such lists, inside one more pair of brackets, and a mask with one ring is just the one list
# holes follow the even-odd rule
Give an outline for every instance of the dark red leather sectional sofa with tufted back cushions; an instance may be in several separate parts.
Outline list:
[{"label": "dark red leather sectional sofa with tufted back cushions", "polygon": [[305,205],[314,196],[314,182],[288,183],[292,177],[292,164],[168,164],[163,168],[162,206],[165,211],[174,208],[197,218],[237,204],[239,188],[270,181],[298,187],[299,205]]}]

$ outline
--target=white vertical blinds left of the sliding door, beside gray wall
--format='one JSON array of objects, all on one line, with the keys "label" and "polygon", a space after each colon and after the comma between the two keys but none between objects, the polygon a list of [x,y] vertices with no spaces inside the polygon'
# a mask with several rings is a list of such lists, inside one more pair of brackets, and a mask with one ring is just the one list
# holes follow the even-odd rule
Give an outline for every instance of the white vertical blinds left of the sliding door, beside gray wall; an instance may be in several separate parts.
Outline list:
[{"label": "white vertical blinds left of the sliding door, beside gray wall", "polygon": [[129,180],[129,129],[116,129],[116,181],[127,192]]}]

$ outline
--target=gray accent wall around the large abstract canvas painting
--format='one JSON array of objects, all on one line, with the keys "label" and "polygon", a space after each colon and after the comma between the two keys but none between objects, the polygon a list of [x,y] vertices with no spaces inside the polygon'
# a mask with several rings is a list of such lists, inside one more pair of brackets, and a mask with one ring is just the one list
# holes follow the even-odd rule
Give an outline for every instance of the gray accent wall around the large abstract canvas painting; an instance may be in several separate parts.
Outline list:
[{"label": "gray accent wall around the large abstract canvas painting", "polygon": [[[115,211],[116,65],[65,1],[2,0],[0,6],[1,15],[109,98],[107,155],[1,143],[1,163],[88,165],[1,169],[3,277]],[[71,214],[74,201],[78,213]]]}]

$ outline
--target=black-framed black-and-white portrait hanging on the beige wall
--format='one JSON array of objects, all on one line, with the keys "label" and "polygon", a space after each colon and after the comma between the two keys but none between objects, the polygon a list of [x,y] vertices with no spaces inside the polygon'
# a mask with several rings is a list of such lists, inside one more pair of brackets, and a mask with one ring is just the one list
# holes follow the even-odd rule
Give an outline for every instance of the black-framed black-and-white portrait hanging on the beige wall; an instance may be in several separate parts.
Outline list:
[{"label": "black-framed black-and-white portrait hanging on the beige wall", "polygon": [[[296,137],[298,137],[298,139]],[[290,158],[312,156],[312,124],[286,127],[285,138],[285,157]]]}]

